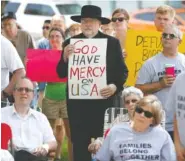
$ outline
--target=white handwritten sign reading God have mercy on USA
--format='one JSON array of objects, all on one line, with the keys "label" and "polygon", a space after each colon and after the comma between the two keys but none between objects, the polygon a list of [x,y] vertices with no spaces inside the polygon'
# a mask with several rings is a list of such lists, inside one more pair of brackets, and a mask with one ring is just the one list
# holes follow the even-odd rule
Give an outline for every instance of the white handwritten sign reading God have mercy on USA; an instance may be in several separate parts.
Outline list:
[{"label": "white handwritten sign reading God have mercy on USA", "polygon": [[100,90],[106,80],[106,39],[71,39],[75,51],[69,57],[70,99],[103,99]]}]

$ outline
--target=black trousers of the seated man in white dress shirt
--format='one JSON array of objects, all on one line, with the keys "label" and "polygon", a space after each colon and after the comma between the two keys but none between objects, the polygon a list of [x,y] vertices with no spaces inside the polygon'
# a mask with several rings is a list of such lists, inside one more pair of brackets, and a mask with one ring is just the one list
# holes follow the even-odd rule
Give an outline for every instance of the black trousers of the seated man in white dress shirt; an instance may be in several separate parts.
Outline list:
[{"label": "black trousers of the seated man in white dress shirt", "polygon": [[15,152],[15,161],[48,161],[47,157],[35,156],[27,151],[20,150]]}]

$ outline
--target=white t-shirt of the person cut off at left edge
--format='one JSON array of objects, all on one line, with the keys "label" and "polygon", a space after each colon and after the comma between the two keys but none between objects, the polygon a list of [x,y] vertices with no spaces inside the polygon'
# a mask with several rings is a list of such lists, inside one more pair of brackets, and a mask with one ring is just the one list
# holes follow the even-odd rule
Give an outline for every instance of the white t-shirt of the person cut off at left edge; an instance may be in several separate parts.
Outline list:
[{"label": "white t-shirt of the person cut off at left edge", "polygon": [[1,35],[1,91],[9,84],[9,72],[24,68],[12,43]]}]

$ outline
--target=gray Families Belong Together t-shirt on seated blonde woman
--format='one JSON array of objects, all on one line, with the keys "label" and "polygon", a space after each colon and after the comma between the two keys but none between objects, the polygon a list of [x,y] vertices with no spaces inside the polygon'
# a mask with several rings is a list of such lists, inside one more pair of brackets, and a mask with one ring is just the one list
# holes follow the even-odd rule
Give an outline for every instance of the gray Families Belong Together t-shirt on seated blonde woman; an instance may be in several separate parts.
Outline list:
[{"label": "gray Families Belong Together t-shirt on seated blonde woman", "polygon": [[173,142],[161,126],[135,132],[130,123],[111,128],[95,157],[99,161],[176,161]]}]

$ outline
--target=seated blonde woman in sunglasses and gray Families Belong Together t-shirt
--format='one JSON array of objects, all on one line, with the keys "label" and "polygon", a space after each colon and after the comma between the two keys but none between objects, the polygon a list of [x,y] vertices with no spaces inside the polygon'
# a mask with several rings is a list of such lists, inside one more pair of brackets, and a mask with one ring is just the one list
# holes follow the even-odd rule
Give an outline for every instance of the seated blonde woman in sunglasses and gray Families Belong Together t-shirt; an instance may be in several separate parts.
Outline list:
[{"label": "seated blonde woman in sunglasses and gray Families Belong Together t-shirt", "polygon": [[111,128],[97,161],[176,161],[174,144],[164,128],[158,126],[162,119],[162,105],[155,96],[141,99],[130,122]]}]

